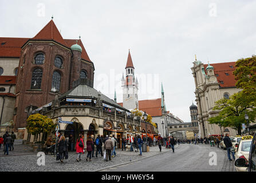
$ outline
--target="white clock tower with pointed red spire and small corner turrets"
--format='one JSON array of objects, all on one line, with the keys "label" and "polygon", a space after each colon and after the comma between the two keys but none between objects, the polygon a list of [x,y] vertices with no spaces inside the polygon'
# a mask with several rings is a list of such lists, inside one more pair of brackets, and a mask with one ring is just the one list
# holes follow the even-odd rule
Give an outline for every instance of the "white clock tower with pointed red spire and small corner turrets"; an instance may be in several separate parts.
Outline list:
[{"label": "white clock tower with pointed red spire and small corner turrets", "polygon": [[125,67],[125,78],[124,74],[122,77],[122,87],[123,87],[123,107],[129,110],[139,109],[138,102],[138,86],[139,82],[137,78],[135,79],[134,67],[132,63],[132,57],[128,54],[127,63]]}]

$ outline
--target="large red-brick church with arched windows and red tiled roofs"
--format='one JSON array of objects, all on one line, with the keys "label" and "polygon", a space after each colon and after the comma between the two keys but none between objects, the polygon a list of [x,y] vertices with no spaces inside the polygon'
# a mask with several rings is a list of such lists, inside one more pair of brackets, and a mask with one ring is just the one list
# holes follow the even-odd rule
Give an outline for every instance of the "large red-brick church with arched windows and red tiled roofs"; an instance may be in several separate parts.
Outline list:
[{"label": "large red-brick church with arched windows and red tiled roofs", "polygon": [[[18,136],[24,133],[29,114],[70,90],[79,78],[93,87],[94,65],[81,39],[62,38],[53,19],[33,38],[2,37],[0,44],[2,132],[9,126]],[[15,90],[7,92],[11,86]]]}]

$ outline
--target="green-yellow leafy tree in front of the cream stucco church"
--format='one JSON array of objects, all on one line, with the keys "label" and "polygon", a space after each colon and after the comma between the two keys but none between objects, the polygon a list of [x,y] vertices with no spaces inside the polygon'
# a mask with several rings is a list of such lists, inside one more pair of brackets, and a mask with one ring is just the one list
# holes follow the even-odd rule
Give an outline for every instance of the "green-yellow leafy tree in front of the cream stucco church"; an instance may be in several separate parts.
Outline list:
[{"label": "green-yellow leafy tree in front of the cream stucco church", "polygon": [[256,116],[254,107],[251,97],[242,92],[235,93],[230,99],[222,98],[215,102],[213,110],[220,110],[220,112],[218,116],[209,118],[209,122],[210,124],[233,127],[241,135],[242,124],[246,124],[245,112],[253,122]]}]

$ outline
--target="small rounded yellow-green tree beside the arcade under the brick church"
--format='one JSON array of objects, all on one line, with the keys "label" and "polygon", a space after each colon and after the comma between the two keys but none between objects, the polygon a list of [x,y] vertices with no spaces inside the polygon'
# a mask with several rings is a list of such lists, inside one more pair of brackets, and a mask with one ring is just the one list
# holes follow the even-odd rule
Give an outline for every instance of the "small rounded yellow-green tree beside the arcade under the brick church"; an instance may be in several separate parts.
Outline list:
[{"label": "small rounded yellow-green tree beside the arcade under the brick church", "polygon": [[27,118],[26,129],[27,132],[33,134],[33,136],[44,132],[49,133],[54,126],[52,119],[41,114],[32,114]]}]

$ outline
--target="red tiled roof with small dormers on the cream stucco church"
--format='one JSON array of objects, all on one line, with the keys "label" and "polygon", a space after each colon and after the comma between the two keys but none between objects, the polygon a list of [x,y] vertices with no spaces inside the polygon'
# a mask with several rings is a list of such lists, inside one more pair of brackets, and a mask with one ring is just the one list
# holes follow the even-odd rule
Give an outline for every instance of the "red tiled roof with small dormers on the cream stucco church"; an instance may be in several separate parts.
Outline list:
[{"label": "red tiled roof with small dormers on the cream stucco church", "polygon": [[[206,71],[206,67],[208,64],[204,64],[204,71]],[[235,75],[233,71],[235,71],[235,62],[225,62],[225,63],[211,63],[211,66],[214,67],[214,74],[218,74],[216,76],[220,87],[236,87],[235,83]],[[233,66],[233,68],[231,68]],[[227,73],[227,74],[226,74]],[[223,83],[222,83],[223,82]]]}]

